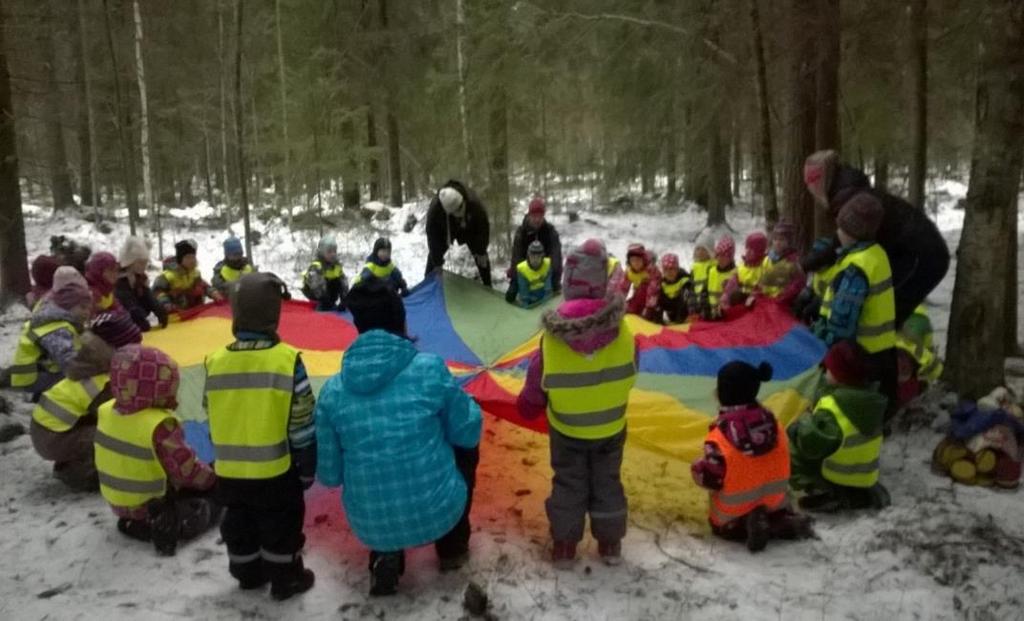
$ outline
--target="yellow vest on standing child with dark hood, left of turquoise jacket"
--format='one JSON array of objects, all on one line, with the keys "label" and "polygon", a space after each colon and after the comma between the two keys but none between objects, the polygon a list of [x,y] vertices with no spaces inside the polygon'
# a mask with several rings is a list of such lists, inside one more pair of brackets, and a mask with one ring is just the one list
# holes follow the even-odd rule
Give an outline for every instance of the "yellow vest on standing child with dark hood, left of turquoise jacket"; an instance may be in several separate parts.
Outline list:
[{"label": "yellow vest on standing child with dark hood, left of turquoise jacket", "polygon": [[298,351],[222,347],[206,360],[214,469],[229,479],[272,479],[292,465],[288,420]]}]

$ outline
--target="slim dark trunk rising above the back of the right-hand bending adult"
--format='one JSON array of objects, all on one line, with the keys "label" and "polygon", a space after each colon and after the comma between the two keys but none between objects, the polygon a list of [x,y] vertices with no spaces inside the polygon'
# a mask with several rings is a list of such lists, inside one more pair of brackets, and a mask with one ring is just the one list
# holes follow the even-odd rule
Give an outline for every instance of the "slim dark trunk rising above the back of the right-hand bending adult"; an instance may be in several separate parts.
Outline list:
[{"label": "slim dark trunk rising above the back of the right-hand bending adult", "polygon": [[925,180],[928,176],[928,0],[909,0],[910,82],[913,99],[910,118],[913,123],[910,159],[910,184],[907,200],[925,208]]}]

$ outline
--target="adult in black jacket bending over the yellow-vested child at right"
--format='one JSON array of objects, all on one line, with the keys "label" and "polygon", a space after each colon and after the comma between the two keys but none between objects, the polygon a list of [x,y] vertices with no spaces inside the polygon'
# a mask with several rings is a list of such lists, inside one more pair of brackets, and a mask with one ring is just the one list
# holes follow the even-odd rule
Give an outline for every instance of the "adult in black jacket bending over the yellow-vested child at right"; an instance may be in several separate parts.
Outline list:
[{"label": "adult in black jacket bending over the yellow-vested child at right", "polygon": [[[949,248],[923,208],[871,188],[867,175],[842,164],[835,151],[819,151],[804,164],[804,182],[815,202],[835,219],[840,208],[859,192],[873,195],[885,215],[878,242],[889,255],[896,297],[896,327],[913,314],[949,270]],[[836,262],[839,241],[820,247],[801,261],[805,272],[816,272]]]}]

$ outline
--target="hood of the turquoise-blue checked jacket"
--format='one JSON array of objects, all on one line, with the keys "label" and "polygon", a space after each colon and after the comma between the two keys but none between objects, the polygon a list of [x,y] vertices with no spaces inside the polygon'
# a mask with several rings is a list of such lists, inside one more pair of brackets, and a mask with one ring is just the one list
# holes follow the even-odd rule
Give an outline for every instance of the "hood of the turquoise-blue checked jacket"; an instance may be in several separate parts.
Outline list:
[{"label": "hood of the turquoise-blue checked jacket", "polygon": [[384,330],[359,335],[341,362],[341,381],[347,390],[372,395],[391,383],[418,354],[413,341]]}]

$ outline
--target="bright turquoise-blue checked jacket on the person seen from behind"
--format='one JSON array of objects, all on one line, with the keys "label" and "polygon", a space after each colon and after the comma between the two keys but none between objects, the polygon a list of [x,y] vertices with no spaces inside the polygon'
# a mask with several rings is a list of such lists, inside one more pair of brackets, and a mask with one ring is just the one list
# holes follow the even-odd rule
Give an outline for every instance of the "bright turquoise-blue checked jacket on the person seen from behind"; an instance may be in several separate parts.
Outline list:
[{"label": "bright turquoise-blue checked jacket on the person seen from behind", "polygon": [[433,354],[383,330],[361,334],[316,403],[316,475],[342,487],[355,536],[393,551],[452,530],[466,483],[452,446],[480,442],[480,408]]}]

